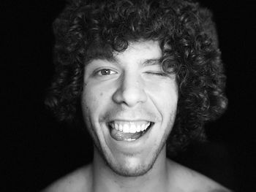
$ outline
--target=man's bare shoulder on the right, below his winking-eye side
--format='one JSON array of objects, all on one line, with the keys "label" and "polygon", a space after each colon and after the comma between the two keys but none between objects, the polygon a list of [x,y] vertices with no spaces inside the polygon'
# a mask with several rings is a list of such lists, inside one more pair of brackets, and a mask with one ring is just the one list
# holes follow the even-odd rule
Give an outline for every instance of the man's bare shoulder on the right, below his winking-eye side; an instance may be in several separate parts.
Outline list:
[{"label": "man's bare shoulder on the right, below his winking-eye side", "polygon": [[169,180],[175,183],[178,191],[184,192],[231,192],[229,189],[210,178],[182,166],[174,161],[168,161]]}]

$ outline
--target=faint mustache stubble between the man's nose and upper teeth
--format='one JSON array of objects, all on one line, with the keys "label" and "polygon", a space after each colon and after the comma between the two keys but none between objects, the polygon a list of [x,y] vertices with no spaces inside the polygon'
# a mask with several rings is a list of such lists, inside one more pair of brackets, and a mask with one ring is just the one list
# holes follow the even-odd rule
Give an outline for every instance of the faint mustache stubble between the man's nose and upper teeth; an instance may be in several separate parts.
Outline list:
[{"label": "faint mustache stubble between the man's nose and upper teeth", "polygon": [[156,112],[152,112],[144,107],[136,109],[124,109],[124,107],[115,107],[102,115],[100,121],[110,122],[112,120],[148,120],[151,122],[160,121],[162,118]]}]

